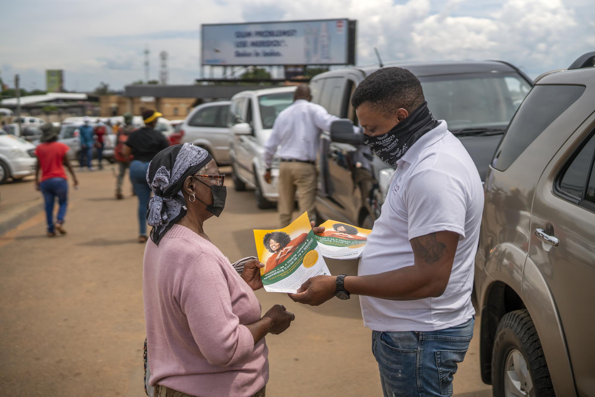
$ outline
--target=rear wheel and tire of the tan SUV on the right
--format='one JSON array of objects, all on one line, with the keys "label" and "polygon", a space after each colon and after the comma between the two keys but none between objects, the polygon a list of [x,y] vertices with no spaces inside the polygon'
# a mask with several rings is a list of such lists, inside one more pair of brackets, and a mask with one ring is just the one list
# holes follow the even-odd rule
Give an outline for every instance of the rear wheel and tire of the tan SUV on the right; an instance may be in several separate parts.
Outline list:
[{"label": "rear wheel and tire of the tan SUV on the right", "polygon": [[[496,330],[491,380],[494,397],[555,397],[537,330],[527,310],[506,313]],[[515,390],[515,393],[512,393]]]}]

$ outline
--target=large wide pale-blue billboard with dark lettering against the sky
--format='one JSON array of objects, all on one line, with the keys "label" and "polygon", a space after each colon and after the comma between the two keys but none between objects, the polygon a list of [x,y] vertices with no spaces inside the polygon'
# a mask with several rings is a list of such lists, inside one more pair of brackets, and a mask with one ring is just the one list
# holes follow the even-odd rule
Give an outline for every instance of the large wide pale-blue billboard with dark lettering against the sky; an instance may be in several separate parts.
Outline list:
[{"label": "large wide pale-blue billboard with dark lettering against the sky", "polygon": [[355,26],[347,19],[204,24],[202,64],[354,64]]}]

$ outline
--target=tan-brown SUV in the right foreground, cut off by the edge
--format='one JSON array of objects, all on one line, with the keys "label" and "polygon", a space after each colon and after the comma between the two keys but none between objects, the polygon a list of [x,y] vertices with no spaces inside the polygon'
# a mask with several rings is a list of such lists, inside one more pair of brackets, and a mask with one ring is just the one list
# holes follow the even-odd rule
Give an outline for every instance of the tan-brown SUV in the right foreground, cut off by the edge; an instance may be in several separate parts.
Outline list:
[{"label": "tan-brown SUV in the right foreground, cut off by the edge", "polygon": [[494,396],[595,396],[594,60],[538,77],[488,167],[475,292]]}]

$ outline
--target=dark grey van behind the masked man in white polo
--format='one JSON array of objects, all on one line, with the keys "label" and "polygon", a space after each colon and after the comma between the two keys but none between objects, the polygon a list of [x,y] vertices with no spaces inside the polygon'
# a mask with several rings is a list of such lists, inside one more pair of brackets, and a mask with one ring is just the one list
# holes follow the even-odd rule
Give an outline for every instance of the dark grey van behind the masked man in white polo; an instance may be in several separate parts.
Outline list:
[{"label": "dark grey van behind the masked man in white polo", "polygon": [[[512,115],[532,82],[518,68],[499,61],[419,62],[396,64],[421,82],[428,108],[446,120],[475,162],[484,180],[487,166]],[[310,82],[312,102],[358,124],[351,106],[355,87],[378,67],[341,68],[318,74]],[[323,132],[318,166],[316,208],[324,219],[371,229],[380,216],[394,168],[372,155],[354,135]]]}]

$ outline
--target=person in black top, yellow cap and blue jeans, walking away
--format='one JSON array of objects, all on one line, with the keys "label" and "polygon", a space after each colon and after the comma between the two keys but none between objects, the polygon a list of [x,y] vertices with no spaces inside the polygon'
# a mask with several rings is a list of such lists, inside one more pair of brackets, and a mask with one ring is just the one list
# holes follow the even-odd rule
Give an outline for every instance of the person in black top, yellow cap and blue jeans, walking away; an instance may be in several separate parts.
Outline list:
[{"label": "person in black top, yellow cap and blue jeans, walking away", "polygon": [[145,127],[142,127],[128,136],[126,146],[123,148],[124,156],[133,155],[134,160],[130,162],[130,182],[134,192],[139,198],[139,243],[144,243],[147,237],[146,212],[147,203],[151,198],[151,187],[146,181],[149,162],[156,154],[170,146],[167,137],[161,131],[155,129],[157,119],[162,116],[155,109],[145,110],[142,113]]}]

